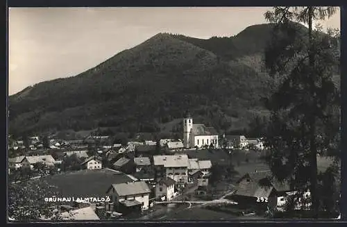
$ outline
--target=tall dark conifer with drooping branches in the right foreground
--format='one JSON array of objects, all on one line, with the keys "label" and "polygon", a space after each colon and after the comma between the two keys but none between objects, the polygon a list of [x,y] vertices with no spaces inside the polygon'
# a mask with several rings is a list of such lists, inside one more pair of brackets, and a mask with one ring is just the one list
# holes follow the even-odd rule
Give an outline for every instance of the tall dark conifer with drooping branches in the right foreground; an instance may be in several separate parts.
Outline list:
[{"label": "tall dark conifer with drooping branches in the right foreground", "polygon": [[[307,6],[274,7],[265,14],[275,23],[265,51],[266,67],[276,81],[266,101],[271,110],[268,162],[278,180],[296,188],[309,185],[315,218],[320,208],[317,153],[329,150],[339,131],[339,91],[333,81],[339,72],[339,35],[323,34],[312,25],[335,12],[334,7]],[[308,31],[293,21],[307,24]]]}]

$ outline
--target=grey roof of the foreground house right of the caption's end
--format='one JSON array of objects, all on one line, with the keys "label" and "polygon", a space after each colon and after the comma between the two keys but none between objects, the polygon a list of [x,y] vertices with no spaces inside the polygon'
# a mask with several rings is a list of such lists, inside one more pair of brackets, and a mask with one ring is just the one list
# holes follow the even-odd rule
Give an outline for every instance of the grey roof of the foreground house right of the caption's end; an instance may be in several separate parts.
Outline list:
[{"label": "grey roof of the foreground house right of the caption's end", "polygon": [[149,186],[144,181],[136,181],[133,183],[112,184],[112,187],[115,189],[115,192],[119,196],[147,194],[151,192],[151,190],[149,189]]}]

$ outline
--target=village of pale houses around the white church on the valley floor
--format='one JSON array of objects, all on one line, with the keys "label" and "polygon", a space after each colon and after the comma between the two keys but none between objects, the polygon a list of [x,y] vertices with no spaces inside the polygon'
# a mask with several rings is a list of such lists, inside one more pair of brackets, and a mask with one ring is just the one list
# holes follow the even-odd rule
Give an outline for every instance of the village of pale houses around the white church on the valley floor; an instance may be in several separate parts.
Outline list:
[{"label": "village of pale houses around the white church on the valley floor", "polygon": [[265,218],[296,193],[262,161],[261,138],[218,135],[213,127],[193,124],[190,116],[183,129],[183,140],[138,138],[123,144],[109,135],[15,140],[9,149],[20,155],[8,160],[9,180],[44,179],[62,198],[107,198],[60,199],[65,203],[57,203],[56,211],[63,220],[187,219],[175,217],[187,209],[192,217],[194,210],[209,210],[219,219]]}]

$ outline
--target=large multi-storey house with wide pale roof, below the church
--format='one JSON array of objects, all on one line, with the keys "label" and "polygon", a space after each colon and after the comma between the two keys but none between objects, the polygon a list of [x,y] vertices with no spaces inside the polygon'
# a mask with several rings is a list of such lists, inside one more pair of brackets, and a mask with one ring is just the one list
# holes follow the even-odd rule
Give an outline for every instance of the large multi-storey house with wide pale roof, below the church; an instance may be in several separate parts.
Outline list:
[{"label": "large multi-storey house with wide pale roof, below the church", "polygon": [[188,182],[189,158],[187,155],[154,155],[156,178],[172,178],[178,184]]}]

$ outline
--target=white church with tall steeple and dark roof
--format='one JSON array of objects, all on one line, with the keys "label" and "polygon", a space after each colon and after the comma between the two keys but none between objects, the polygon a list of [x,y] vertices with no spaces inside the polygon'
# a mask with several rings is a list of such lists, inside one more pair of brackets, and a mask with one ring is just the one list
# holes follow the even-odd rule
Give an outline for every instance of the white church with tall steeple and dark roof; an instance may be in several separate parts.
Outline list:
[{"label": "white church with tall steeple and dark roof", "polygon": [[218,148],[218,133],[213,127],[204,124],[193,124],[192,117],[183,119],[183,145],[185,148],[201,148],[213,145]]}]

